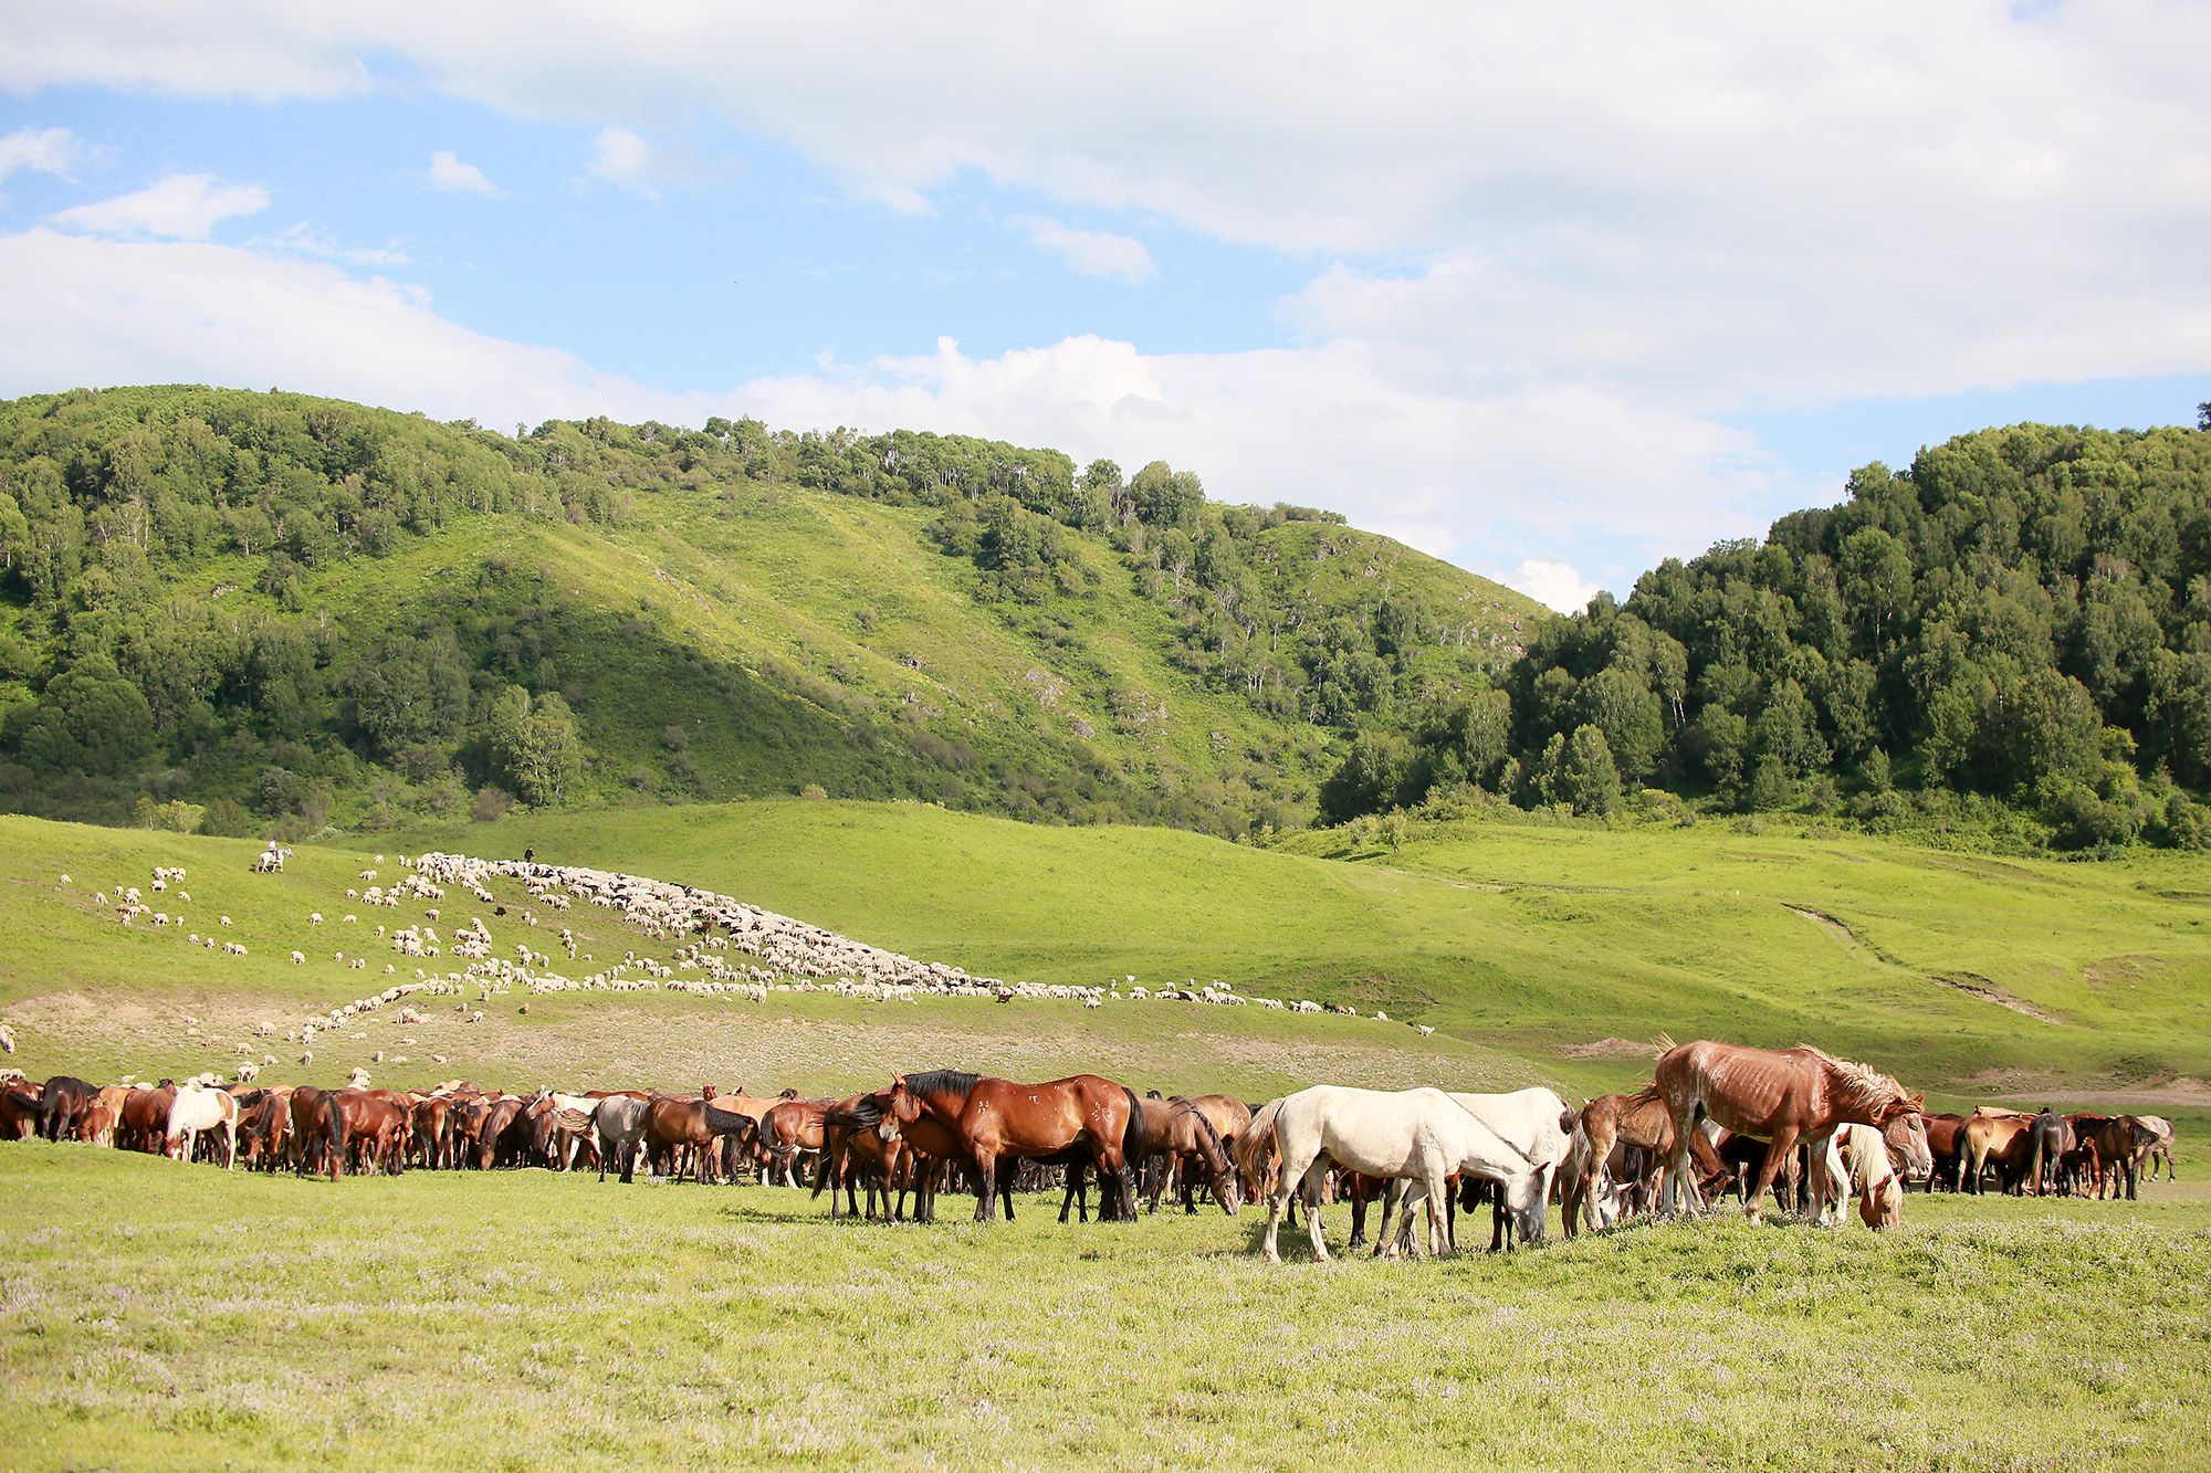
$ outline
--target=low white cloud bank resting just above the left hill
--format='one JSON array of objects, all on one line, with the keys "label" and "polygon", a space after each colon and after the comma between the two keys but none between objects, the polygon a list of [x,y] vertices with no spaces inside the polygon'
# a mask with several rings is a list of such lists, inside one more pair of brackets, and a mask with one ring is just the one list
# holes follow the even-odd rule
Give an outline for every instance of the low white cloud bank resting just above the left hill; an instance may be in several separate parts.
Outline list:
[{"label": "low white cloud bank resting just above the left hill", "polygon": [[1442,389],[1358,343],[1143,354],[1075,336],[971,358],[944,338],[933,354],[670,394],[469,332],[407,283],[263,250],[31,230],[0,237],[0,279],[42,283],[0,294],[0,394],[283,385],[489,425],[929,427],[1125,467],[1165,458],[1214,498],[1340,509],[1464,566],[1568,557],[1612,579],[1660,546],[1760,531],[1753,506],[1773,495],[1758,447],[1711,420],[1587,385]]}]

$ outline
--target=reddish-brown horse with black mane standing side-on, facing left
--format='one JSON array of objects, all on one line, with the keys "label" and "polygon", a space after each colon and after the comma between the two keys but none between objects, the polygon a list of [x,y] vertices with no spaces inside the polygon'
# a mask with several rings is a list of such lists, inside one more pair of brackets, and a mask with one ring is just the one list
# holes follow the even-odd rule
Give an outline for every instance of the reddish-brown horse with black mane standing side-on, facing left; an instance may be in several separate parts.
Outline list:
[{"label": "reddish-brown horse with black mane standing side-on, facing left", "polygon": [[1099,1075],[1072,1075],[1044,1084],[1015,1084],[957,1070],[898,1075],[891,1079],[889,1115],[900,1128],[933,1119],[960,1143],[975,1166],[975,1221],[997,1221],[999,1161],[1052,1159],[1086,1148],[1108,1185],[1099,1214],[1136,1219],[1136,1188],[1130,1155],[1143,1139],[1143,1106],[1136,1090]]}]

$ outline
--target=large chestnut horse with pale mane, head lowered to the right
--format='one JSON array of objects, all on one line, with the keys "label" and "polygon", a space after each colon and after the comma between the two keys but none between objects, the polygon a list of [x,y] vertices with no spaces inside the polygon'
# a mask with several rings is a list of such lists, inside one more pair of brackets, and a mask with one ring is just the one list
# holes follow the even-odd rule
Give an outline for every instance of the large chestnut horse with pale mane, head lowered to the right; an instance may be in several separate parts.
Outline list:
[{"label": "large chestnut horse with pale mane, head lowered to the right", "polygon": [[1795,1155],[1800,1139],[1822,1139],[1835,1126],[1864,1124],[1886,1130],[1893,1119],[1917,1115],[1924,1097],[1904,1093],[1888,1075],[1848,1064],[1817,1048],[1744,1048],[1698,1040],[1669,1048],[1658,1059],[1658,1093],[1674,1112],[1674,1168],[1667,1174],[1667,1212],[1689,1181],[1689,1135],[1702,1119],[1716,1119],[1736,1135],[1767,1141],[1758,1183],[1742,1212],[1764,1216],[1764,1194],[1773,1172]]}]

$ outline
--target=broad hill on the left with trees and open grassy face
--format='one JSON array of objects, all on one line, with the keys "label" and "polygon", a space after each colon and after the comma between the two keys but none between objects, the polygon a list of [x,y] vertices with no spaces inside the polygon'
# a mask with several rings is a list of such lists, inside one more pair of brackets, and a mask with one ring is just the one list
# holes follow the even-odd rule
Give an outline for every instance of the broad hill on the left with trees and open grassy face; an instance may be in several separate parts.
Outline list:
[{"label": "broad hill on the left with trees and open grassy face", "polygon": [[294,394],[0,405],[0,805],[214,834],[822,792],[1302,825],[1530,599],[1167,464]]}]

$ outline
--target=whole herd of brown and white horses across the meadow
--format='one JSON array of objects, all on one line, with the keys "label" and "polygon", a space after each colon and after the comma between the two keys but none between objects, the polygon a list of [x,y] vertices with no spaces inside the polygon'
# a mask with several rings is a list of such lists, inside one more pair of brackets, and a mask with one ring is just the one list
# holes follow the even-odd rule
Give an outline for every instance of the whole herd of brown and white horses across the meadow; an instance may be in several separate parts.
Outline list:
[{"label": "whole herd of brown and white horses across the meadow", "polygon": [[[433,1090],[310,1084],[217,1088],[210,1082],[95,1086],[60,1075],[0,1090],[0,1137],[75,1139],[170,1159],[327,1174],[595,1168],[632,1181],[734,1181],[738,1174],[829,1192],[829,1214],[935,1221],[951,1185],[975,1194],[975,1221],[1010,1219],[1015,1194],[1061,1185],[1059,1219],[1132,1221],[1150,1197],[1196,1212],[1203,1190],[1225,1212],[1267,1203],[1260,1252],[1278,1256],[1285,1212],[1302,1201],[1316,1258],[1327,1258],[1320,1208],[1349,1201],[1351,1245],[1382,1205],[1375,1252],[1455,1245],[1455,1212],[1492,1208],[1492,1247],[1534,1243],[1545,1208],[1568,1236],[1634,1212],[1702,1212],[1733,1190],[1756,1221],[1769,1192],[1822,1223],[1857,1201],[1868,1228],[1901,1219],[1904,1183],[2012,1192],[2136,1194],[2142,1168],[2165,1161],[2171,1126],[2136,1115],[2025,1115],[1981,1108],[1924,1112],[1924,1099],[1864,1064],[1817,1048],[1696,1042],[1667,1051],[1647,1088],[1570,1108],[1545,1088],[1501,1095],[1435,1088],[1311,1086],[1249,1104],[1232,1095],[1159,1097],[1099,1075],[1017,1084],[962,1070],[895,1075],[845,1099],[761,1097],[743,1088],[696,1095],[537,1090],[528,1097],[449,1082]],[[893,1201],[895,1199],[895,1201]],[[1391,1219],[1395,1216],[1395,1234]]]}]

